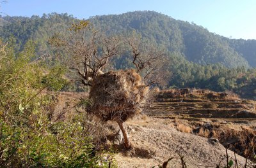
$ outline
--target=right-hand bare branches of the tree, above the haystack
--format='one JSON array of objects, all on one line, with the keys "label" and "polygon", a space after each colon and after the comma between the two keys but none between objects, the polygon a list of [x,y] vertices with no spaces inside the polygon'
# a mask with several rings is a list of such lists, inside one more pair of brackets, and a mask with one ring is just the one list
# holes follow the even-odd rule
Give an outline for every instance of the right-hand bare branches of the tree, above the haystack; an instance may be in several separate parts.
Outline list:
[{"label": "right-hand bare branches of the tree, above the haystack", "polygon": [[124,41],[131,48],[132,63],[145,85],[166,85],[170,73],[166,69],[168,58],[164,50],[141,40],[141,36],[136,32],[125,36]]}]

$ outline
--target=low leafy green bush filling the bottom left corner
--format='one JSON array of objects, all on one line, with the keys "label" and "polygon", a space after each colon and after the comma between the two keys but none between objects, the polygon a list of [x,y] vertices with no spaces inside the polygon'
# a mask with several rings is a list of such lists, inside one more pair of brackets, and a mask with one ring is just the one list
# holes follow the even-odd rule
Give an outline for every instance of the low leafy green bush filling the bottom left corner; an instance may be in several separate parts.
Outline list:
[{"label": "low leafy green bush filling the bottom left corner", "polygon": [[[112,153],[94,150],[79,123],[56,123],[52,130],[12,127],[1,121],[0,167],[108,167]],[[104,160],[102,159],[104,158]]]}]

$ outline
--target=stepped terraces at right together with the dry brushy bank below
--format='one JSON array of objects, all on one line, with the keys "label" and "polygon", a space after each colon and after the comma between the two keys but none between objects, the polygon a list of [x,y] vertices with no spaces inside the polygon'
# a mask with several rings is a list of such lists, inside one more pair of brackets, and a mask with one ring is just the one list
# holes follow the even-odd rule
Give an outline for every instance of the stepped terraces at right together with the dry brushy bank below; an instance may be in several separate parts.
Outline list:
[{"label": "stepped terraces at right together with the dry brushy bank below", "polygon": [[165,90],[158,92],[146,115],[166,119],[181,132],[217,138],[223,146],[244,157],[255,146],[256,101],[240,99],[234,94]]}]

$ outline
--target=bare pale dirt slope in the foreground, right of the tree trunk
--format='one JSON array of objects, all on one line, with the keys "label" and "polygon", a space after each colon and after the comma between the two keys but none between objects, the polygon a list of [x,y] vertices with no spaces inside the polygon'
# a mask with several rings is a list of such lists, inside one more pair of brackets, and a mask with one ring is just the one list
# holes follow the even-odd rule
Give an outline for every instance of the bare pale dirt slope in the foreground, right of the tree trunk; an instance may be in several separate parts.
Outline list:
[{"label": "bare pale dirt slope in the foreground, right of the tree trunk", "polygon": [[[161,122],[162,121],[162,122]],[[134,146],[134,157],[116,156],[118,167],[153,167],[174,157],[169,167],[181,167],[179,155],[184,156],[187,167],[216,167],[226,161],[225,148],[204,137],[179,132],[165,125],[164,120],[147,119],[127,122],[129,134]],[[234,161],[234,153],[228,150]],[[243,167],[245,158],[236,156],[239,167]],[[252,166],[248,166],[252,167]]]}]

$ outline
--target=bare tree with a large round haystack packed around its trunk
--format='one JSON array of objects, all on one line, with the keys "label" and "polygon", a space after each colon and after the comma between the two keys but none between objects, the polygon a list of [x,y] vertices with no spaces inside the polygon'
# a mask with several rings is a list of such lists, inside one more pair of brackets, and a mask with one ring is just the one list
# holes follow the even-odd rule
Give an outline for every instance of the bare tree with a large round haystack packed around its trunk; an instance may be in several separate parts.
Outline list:
[{"label": "bare tree with a large round haystack packed around its trunk", "polygon": [[[92,101],[88,111],[104,121],[118,123],[124,135],[125,148],[131,148],[124,122],[140,113],[147,102],[150,85],[162,81],[164,54],[153,46],[142,46],[140,36],[105,36],[95,31],[86,21],[74,24],[70,36],[54,36],[50,42],[68,53],[68,67],[90,86]],[[134,69],[106,71],[109,59],[122,53],[120,46],[131,48]],[[141,50],[143,48],[144,50]],[[146,50],[145,50],[146,49]],[[162,59],[159,62],[159,59]],[[157,75],[157,71],[162,71]],[[154,76],[154,77],[153,77]]]}]

